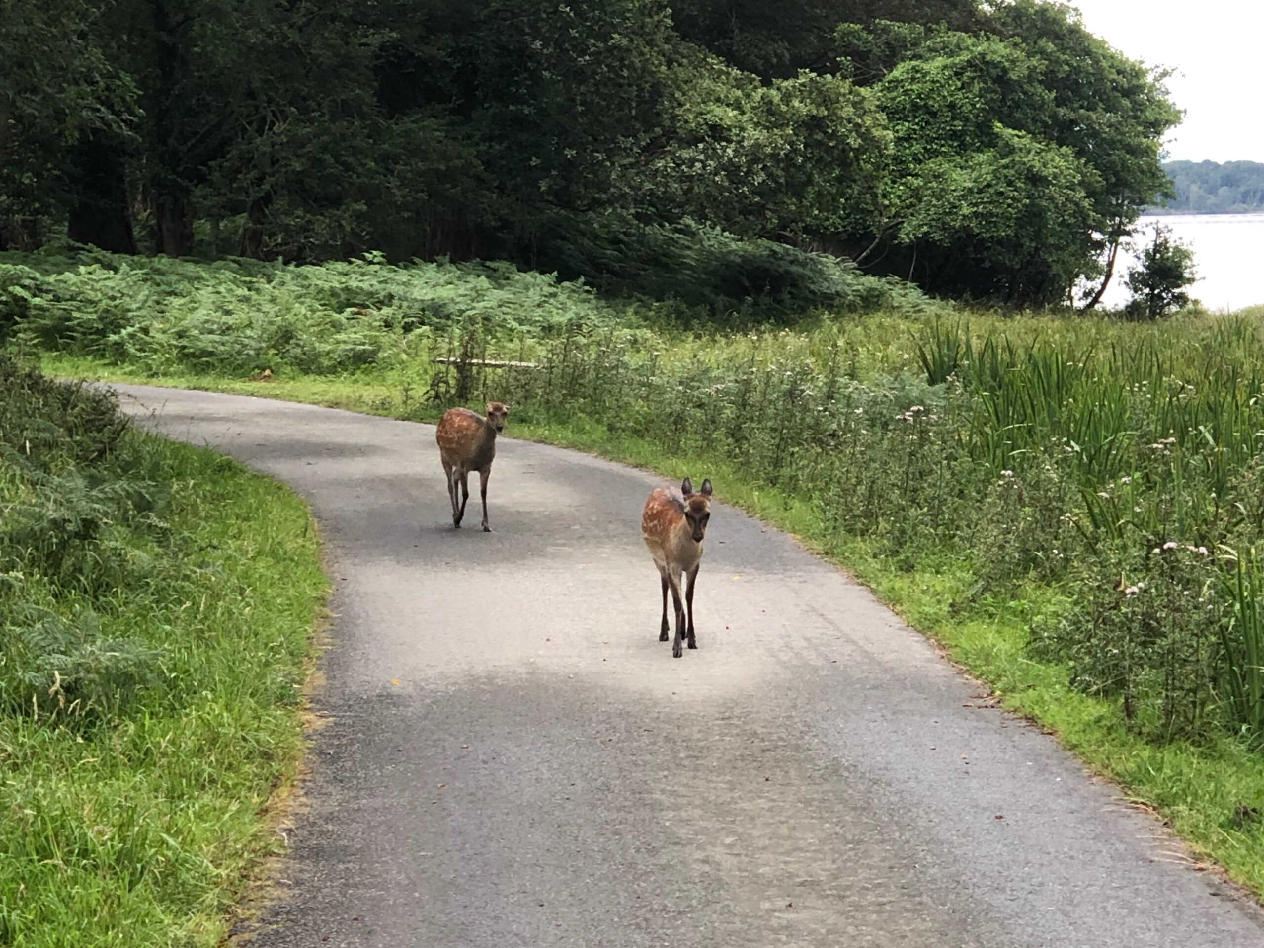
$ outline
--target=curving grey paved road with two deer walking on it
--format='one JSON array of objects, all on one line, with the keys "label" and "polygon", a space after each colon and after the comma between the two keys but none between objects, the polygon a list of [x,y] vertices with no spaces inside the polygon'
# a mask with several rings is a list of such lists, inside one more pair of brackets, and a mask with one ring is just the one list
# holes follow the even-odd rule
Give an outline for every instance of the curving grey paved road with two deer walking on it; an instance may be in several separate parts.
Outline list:
[{"label": "curving grey paved road with two deer walking on it", "polygon": [[428,426],[121,391],[329,541],[327,724],[254,944],[1264,945],[1153,819],[737,511],[672,660],[650,475],[503,441],[495,532],[453,531]]}]

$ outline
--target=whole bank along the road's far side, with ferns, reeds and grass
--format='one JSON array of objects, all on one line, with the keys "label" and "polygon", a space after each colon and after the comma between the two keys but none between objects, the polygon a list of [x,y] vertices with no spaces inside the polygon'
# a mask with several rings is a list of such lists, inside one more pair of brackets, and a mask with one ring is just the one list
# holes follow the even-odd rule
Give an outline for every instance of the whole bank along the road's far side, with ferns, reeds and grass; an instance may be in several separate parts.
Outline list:
[{"label": "whole bank along the road's far side, with ferns, reeds and grass", "polygon": [[[330,268],[233,292],[210,269],[119,273],[118,306],[123,277],[100,268],[10,291],[10,345],[61,374],[404,418],[495,398],[520,436],[707,474],[1264,894],[1259,313],[918,303],[737,331],[538,276],[353,268],[339,296]],[[439,278],[446,308],[428,302]],[[291,319],[305,281],[313,315]],[[335,324],[373,330],[356,362],[298,358]],[[198,355],[238,339],[248,360]]]}]

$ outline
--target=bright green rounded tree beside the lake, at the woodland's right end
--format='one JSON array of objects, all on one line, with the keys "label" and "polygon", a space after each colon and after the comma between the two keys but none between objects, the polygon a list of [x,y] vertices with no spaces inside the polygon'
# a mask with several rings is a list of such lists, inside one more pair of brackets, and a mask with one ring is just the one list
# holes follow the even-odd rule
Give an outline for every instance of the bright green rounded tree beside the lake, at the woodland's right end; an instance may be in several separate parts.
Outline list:
[{"label": "bright green rounded tree beside the lake, at the woodland's right end", "polygon": [[1066,302],[1169,187],[1159,143],[1179,114],[1069,8],[1015,0],[990,23],[904,32],[873,87],[895,135],[885,265],[935,293]]}]

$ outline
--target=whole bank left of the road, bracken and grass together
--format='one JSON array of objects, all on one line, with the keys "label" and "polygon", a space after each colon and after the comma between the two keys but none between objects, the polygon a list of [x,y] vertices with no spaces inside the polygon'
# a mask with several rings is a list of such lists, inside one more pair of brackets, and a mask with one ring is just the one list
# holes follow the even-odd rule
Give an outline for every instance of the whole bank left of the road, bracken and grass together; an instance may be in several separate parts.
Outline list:
[{"label": "whole bank left of the road, bracken and grass together", "polygon": [[301,753],[310,516],[97,394],[0,383],[0,944],[217,944]]}]

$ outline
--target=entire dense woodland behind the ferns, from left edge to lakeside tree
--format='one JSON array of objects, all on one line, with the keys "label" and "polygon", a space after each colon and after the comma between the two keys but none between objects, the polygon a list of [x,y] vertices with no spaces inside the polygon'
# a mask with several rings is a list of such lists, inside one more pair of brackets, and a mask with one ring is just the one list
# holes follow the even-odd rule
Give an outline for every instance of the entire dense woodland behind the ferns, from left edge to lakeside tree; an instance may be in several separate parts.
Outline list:
[{"label": "entire dense woodland behind the ferns, from left edge to lakeside tree", "polygon": [[1170,187],[1162,80],[1034,0],[6,0],[0,249],[640,292],[756,240],[1058,303]]}]

